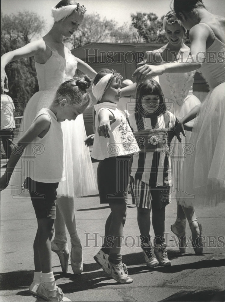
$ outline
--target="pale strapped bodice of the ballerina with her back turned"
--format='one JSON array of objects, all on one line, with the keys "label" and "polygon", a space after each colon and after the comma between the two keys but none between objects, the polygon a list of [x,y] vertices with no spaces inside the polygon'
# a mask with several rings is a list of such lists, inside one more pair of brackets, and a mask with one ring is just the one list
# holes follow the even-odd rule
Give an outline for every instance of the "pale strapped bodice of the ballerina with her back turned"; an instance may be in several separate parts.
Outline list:
[{"label": "pale strapped bodice of the ballerina with her back turned", "polygon": [[206,49],[206,60],[198,71],[206,79],[210,90],[225,82],[225,44],[215,36],[211,27],[205,24],[214,36],[214,42]]}]

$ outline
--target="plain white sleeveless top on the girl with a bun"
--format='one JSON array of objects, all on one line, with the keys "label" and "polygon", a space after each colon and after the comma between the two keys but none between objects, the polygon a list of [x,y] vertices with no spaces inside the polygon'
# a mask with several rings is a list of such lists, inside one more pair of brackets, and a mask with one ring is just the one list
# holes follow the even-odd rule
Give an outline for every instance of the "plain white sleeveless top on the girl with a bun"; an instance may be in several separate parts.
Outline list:
[{"label": "plain white sleeveless top on the girl with a bun", "polygon": [[61,123],[55,114],[47,108],[41,109],[35,120],[42,114],[51,119],[49,131],[43,138],[36,137],[26,148],[23,158],[31,162],[27,176],[36,182],[62,182],[65,180],[63,161],[63,138]]}]

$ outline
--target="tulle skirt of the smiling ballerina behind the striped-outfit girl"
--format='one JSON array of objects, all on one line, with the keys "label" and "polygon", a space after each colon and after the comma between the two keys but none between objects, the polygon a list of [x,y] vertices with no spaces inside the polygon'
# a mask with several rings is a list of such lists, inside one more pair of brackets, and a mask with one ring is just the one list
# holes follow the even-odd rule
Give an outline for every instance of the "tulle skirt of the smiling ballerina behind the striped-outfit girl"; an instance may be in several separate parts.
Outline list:
[{"label": "tulle skirt of the smiling ballerina behind the striped-outfit girl", "polygon": [[[169,100],[170,101],[170,100]],[[173,114],[179,119],[189,113],[196,105],[200,104],[199,99],[193,95],[188,95],[182,105],[175,103]],[[189,148],[189,140],[191,137],[191,131],[185,131],[186,137],[181,135],[182,142],[180,143],[176,136],[171,142],[171,165],[173,171],[173,191],[178,191],[182,183],[181,166],[185,157],[185,150]]]}]

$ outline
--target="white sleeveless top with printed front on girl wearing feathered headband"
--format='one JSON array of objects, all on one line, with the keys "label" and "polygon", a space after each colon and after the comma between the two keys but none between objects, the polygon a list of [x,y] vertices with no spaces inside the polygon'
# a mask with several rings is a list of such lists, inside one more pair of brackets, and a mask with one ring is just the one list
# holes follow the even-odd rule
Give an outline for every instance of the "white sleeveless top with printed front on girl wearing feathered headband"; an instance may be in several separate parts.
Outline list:
[{"label": "white sleeveless top with printed front on girl wearing feathered headband", "polygon": [[[125,116],[116,108],[116,104],[104,102],[94,105],[94,109],[96,115],[94,144],[91,155],[93,158],[103,160],[108,157],[128,155],[140,151]],[[116,118],[116,121],[110,126],[109,138],[99,136],[97,132],[99,126],[98,115],[103,109],[111,111]]]}]

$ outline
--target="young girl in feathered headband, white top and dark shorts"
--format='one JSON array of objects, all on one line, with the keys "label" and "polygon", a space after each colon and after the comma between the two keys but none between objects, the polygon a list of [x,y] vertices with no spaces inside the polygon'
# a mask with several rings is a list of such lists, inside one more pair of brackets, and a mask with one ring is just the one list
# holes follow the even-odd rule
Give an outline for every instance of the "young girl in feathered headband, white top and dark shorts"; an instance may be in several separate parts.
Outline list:
[{"label": "young girl in feathered headband, white top and dark shorts", "polygon": [[139,148],[125,116],[116,108],[121,95],[121,78],[114,71],[102,69],[93,80],[92,92],[98,102],[94,105],[92,157],[99,160],[97,182],[100,203],[108,203],[111,209],[106,220],[103,247],[94,259],[113,279],[127,284],[133,279],[121,261],[121,236],[126,220],[130,157]]}]

